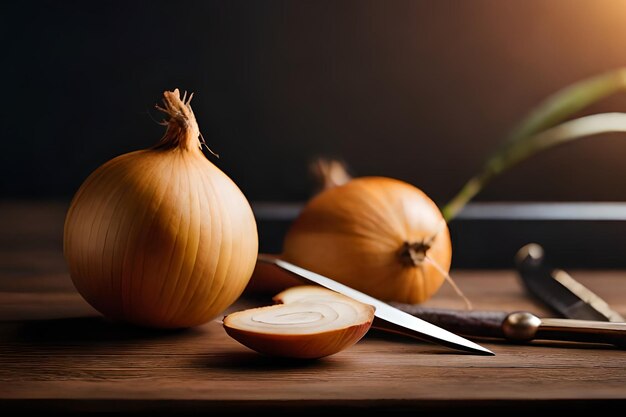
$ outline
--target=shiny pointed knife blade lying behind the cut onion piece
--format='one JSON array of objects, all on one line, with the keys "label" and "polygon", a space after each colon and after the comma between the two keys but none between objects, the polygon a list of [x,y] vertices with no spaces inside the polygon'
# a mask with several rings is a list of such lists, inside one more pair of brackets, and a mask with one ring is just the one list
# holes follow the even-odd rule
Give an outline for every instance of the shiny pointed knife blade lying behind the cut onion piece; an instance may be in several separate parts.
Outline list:
[{"label": "shiny pointed knife blade lying behind the cut onion piece", "polygon": [[317,274],[313,271],[301,268],[290,262],[283,261],[278,258],[259,255],[259,262],[273,264],[285,271],[288,271],[300,278],[301,281],[306,283],[314,283],[321,285],[330,290],[336,291],[340,294],[348,296],[354,300],[360,301],[365,304],[370,304],[375,307],[376,318],[385,323],[387,330],[396,331],[408,336],[415,337],[417,339],[439,344],[451,349],[460,350],[467,353],[474,353],[480,355],[494,355],[489,349],[480,346],[470,340],[467,340],[461,336],[458,336],[448,330],[435,326],[425,320],[422,320],[416,316],[401,311],[388,303],[371,297],[365,293],[357,291],[347,285],[341,284],[335,280],[332,280],[323,275]]}]

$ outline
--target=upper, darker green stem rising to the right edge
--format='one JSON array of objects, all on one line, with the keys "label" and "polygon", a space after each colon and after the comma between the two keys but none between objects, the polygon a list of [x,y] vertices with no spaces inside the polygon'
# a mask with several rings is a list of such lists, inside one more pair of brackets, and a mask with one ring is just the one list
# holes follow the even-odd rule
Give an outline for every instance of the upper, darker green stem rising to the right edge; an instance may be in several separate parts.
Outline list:
[{"label": "upper, darker green stem rising to the right edge", "polygon": [[[537,140],[544,140],[543,136],[539,135],[541,131],[555,126],[611,94],[624,90],[626,90],[626,68],[619,68],[579,81],[548,97],[512,130],[500,148],[486,161],[483,170],[472,177],[461,191],[443,206],[442,212],[446,221],[456,217],[463,207],[502,171],[536,152],[553,146],[554,144],[543,146],[536,143]],[[525,144],[526,141],[529,141],[528,145]]]}]

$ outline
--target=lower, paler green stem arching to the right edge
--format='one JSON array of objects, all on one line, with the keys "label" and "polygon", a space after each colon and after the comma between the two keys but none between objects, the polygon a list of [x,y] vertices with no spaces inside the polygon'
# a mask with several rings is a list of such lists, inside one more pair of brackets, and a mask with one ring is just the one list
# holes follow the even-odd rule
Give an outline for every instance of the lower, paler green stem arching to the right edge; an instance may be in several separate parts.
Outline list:
[{"label": "lower, paler green stem arching to the right edge", "polygon": [[626,133],[626,113],[600,113],[569,120],[525,140],[512,143],[494,155],[483,171],[471,178],[442,210],[450,221],[465,205],[501,172],[548,148],[602,133]]}]

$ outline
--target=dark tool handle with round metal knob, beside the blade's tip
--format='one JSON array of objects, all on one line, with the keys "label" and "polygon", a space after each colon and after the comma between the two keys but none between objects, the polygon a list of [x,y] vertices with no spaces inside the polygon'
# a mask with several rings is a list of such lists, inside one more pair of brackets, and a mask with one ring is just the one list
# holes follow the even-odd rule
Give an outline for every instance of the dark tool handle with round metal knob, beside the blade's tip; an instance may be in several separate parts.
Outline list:
[{"label": "dark tool handle with round metal knob, beside the blade's tip", "polygon": [[425,308],[401,303],[392,305],[467,337],[498,338],[523,343],[532,340],[558,340],[610,344],[626,348],[626,323],[539,318],[528,311],[508,313]]}]

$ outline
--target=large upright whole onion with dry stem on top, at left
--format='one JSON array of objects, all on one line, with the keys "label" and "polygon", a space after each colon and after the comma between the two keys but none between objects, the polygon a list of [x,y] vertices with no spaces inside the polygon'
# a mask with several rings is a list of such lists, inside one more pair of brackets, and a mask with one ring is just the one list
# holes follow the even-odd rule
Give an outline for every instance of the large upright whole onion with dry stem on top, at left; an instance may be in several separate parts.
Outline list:
[{"label": "large upright whole onion with dry stem on top, at left", "polygon": [[186,94],[164,93],[167,131],[81,185],[64,255],[74,285],[114,320],[159,328],[215,318],[248,283],[258,251],[250,204],[204,156]]}]

